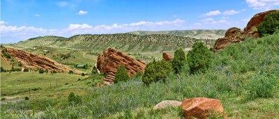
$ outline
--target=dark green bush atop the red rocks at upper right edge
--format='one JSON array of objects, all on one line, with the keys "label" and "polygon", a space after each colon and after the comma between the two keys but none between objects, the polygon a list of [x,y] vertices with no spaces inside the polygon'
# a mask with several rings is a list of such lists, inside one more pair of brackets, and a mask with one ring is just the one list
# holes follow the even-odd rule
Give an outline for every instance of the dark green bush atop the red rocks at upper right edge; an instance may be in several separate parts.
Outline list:
[{"label": "dark green bush atop the red rocks at upper right edge", "polygon": [[279,29],[279,11],[270,13],[264,17],[264,21],[259,24],[258,31],[261,36],[273,34]]}]

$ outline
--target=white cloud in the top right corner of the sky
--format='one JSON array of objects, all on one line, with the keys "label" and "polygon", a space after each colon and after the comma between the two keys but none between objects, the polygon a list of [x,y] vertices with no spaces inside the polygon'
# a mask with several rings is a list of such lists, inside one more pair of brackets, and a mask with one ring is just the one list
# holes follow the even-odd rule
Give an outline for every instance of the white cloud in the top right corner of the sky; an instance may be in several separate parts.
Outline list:
[{"label": "white cloud in the top right corner of the sky", "polygon": [[246,3],[253,9],[269,10],[279,6],[279,0],[246,0]]}]

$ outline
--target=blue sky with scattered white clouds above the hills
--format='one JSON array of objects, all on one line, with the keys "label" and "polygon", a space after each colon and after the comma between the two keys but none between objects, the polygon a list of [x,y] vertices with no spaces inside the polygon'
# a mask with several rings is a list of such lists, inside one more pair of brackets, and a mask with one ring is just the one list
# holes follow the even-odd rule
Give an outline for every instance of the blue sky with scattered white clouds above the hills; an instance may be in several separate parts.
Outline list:
[{"label": "blue sky with scattered white clouds above the hills", "polygon": [[43,35],[243,29],[279,0],[1,0],[1,43]]}]

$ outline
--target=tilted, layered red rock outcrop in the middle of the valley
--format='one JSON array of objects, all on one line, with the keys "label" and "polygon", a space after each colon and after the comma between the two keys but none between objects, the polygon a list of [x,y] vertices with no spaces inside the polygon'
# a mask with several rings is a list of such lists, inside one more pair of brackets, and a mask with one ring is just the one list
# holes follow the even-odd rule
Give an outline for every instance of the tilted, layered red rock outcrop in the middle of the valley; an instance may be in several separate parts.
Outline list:
[{"label": "tilted, layered red rock outcrop in the middle of the valley", "polygon": [[103,51],[103,54],[99,54],[97,60],[98,70],[107,74],[104,79],[105,84],[113,83],[116,68],[119,65],[123,65],[126,68],[130,77],[137,72],[144,71],[144,68],[146,67],[146,63],[143,61],[135,60],[130,56],[123,54],[121,51],[112,48],[106,49]]}]

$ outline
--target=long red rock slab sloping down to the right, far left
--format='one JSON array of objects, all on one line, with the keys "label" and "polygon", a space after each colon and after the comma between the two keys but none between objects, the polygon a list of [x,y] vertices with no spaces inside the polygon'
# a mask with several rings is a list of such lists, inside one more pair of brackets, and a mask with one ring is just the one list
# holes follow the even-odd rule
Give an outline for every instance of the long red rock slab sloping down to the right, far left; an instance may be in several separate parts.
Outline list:
[{"label": "long red rock slab sloping down to the right, far left", "polygon": [[[7,53],[10,54],[10,56],[14,56],[17,61],[20,61],[27,68],[43,68],[45,70],[56,72],[69,72],[70,70],[73,70],[50,58],[31,54],[28,51],[7,47]],[[73,70],[73,72],[76,74],[82,74],[82,72],[78,70]]]}]

